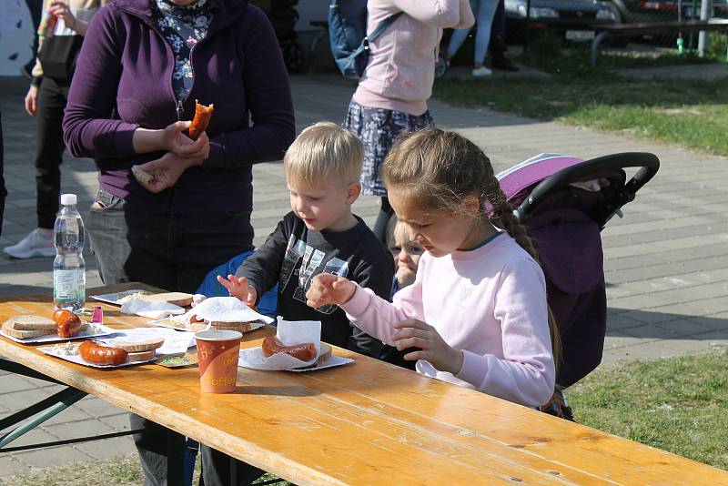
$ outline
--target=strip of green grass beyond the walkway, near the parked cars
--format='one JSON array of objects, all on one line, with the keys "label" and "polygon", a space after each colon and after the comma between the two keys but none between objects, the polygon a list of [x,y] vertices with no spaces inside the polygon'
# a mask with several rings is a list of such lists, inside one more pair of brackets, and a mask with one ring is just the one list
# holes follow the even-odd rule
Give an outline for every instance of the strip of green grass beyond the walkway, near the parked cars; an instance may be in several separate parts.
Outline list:
[{"label": "strip of green grass beyond the walkway, near the parked cars", "polygon": [[601,56],[600,65],[592,68],[584,48],[571,49],[568,56],[562,53],[558,41],[544,41],[519,59],[551,73],[550,79],[446,76],[435,83],[434,95],[456,106],[485,106],[728,156],[725,79],[637,80],[613,72],[619,67],[693,64],[705,59],[671,53],[652,59]]}]

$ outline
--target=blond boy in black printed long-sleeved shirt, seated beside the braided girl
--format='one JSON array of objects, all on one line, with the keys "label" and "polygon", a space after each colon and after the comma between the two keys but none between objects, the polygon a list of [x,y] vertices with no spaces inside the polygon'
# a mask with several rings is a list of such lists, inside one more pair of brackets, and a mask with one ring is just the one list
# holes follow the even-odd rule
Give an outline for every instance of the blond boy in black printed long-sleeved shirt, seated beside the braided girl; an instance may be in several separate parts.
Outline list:
[{"label": "blond boy in black printed long-sleeved shirt, seated beside the braided girl", "polygon": [[363,158],[359,139],[336,124],[320,122],[303,130],[283,158],[291,212],[234,276],[217,279],[230,295],[251,305],[278,282],[279,316],[320,320],[322,340],[379,358],[382,343],[354,327],[338,306],[306,305],[310,281],[322,272],[389,299],[391,254],[351,213],[361,193]]}]

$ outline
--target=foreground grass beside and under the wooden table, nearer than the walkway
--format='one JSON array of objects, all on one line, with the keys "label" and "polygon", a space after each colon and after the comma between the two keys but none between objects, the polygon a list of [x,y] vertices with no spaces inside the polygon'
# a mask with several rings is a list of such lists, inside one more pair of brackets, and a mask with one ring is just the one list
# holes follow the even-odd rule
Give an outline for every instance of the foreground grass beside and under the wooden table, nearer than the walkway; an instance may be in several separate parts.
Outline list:
[{"label": "foreground grass beside and under the wooden table, nearer than the walkway", "polygon": [[[567,390],[567,399],[583,425],[728,470],[728,349],[602,368]],[[193,484],[198,474],[199,461]],[[0,477],[0,486],[127,486],[142,480],[132,455]]]}]

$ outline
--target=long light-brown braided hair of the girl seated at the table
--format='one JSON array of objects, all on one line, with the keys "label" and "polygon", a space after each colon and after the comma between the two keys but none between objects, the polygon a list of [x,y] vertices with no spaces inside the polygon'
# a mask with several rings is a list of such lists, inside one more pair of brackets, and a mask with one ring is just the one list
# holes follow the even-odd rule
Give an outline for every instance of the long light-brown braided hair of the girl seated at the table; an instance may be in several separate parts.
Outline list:
[{"label": "long light-brown braided hair of the girl seated at the table", "polygon": [[[478,218],[488,218],[486,208],[490,206],[496,226],[505,229],[539,261],[526,227],[513,215],[490,159],[468,138],[434,127],[400,137],[384,159],[381,174],[389,192],[398,192],[421,206],[439,211],[465,214],[468,209],[464,199],[478,197]],[[551,309],[549,329],[553,359],[558,365],[561,339]]]}]

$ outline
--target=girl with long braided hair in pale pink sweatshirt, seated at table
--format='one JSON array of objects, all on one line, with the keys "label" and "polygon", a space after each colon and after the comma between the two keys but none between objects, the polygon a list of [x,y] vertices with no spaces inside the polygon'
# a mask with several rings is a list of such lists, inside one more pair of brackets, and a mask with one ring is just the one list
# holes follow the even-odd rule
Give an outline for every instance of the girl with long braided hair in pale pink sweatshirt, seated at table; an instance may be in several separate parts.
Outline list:
[{"label": "girl with long braided hair in pale pink sweatshirt, seated at table", "polygon": [[549,402],[559,339],[546,284],[488,157],[465,137],[425,128],[392,147],[382,177],[425,249],[415,282],[390,303],[320,274],[308,305],[338,304],[424,375],[529,407]]}]

